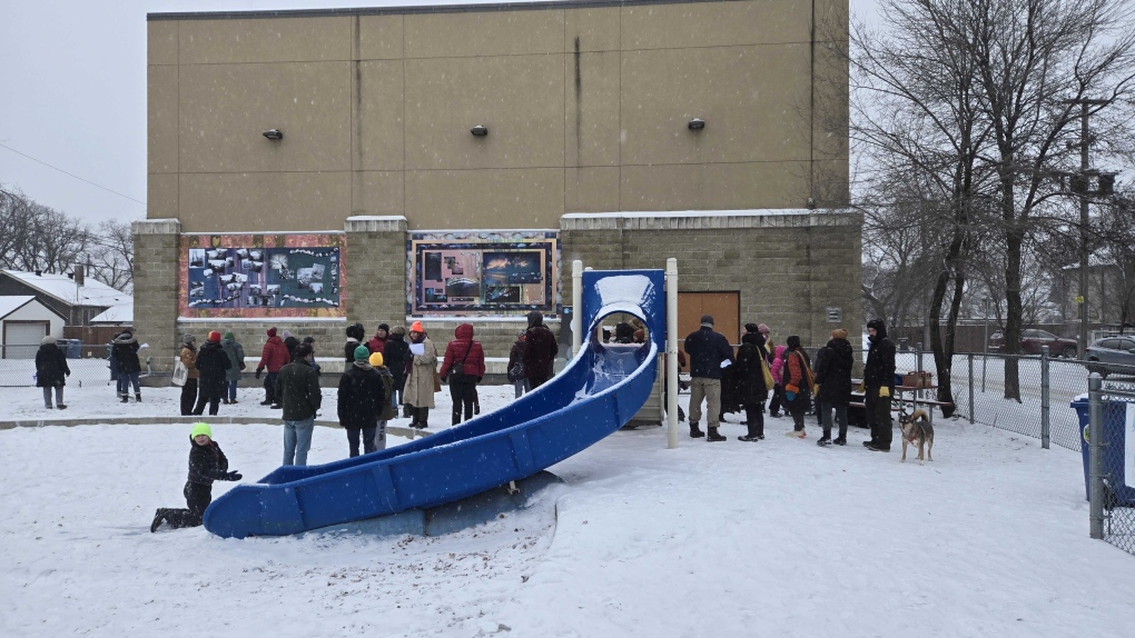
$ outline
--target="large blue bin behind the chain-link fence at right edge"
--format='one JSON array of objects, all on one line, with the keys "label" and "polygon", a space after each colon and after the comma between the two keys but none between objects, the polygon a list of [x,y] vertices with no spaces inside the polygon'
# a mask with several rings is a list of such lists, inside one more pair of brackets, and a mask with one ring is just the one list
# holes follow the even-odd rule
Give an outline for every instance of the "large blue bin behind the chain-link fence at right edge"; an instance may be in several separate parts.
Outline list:
[{"label": "large blue bin behind the chain-link fence at right edge", "polygon": [[[1091,409],[1087,397],[1078,397],[1071,402],[1071,408],[1079,417],[1079,449],[1084,459],[1084,493],[1085,497],[1092,497],[1092,479],[1088,468],[1091,467]],[[1128,418],[1130,412],[1132,418]],[[1127,401],[1104,401],[1103,402],[1103,428],[1107,439],[1103,445],[1103,458],[1100,465],[1104,479],[1104,503],[1109,509],[1115,505],[1135,505],[1135,462],[1127,463],[1127,459],[1135,459],[1135,403]],[[1133,429],[1128,433],[1128,429]],[[1130,436],[1127,436],[1130,434]],[[1128,449],[1130,445],[1130,449]]]}]

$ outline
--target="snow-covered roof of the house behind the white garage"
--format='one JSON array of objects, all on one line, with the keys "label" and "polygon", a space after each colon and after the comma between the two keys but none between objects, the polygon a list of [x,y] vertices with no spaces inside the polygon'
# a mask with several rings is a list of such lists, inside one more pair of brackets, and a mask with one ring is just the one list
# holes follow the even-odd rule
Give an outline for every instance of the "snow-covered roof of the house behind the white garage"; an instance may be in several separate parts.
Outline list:
[{"label": "snow-covered roof of the house behind the white garage", "polygon": [[32,296],[61,315],[67,325],[90,325],[108,308],[133,303],[133,297],[86,278],[43,271],[0,270],[0,296]]}]

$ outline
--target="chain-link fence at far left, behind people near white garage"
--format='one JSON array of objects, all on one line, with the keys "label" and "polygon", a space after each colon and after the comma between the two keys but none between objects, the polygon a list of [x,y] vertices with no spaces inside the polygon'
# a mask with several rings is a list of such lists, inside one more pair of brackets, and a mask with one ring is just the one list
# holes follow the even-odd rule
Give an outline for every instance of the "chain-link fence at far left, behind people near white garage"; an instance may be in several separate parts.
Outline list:
[{"label": "chain-link fence at far left, behind people near white garage", "polygon": [[[106,343],[85,344],[73,339],[60,339],[57,347],[67,358],[70,376],[67,385],[111,385],[110,347]],[[35,354],[39,346],[0,346],[0,388],[34,388]],[[148,375],[150,357],[143,350],[142,374]]]}]

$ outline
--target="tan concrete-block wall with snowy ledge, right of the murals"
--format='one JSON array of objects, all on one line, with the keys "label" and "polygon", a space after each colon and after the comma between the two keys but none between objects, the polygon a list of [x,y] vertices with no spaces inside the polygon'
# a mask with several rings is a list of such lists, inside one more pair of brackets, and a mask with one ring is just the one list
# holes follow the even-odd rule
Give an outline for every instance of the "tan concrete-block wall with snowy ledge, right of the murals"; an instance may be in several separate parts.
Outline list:
[{"label": "tan concrete-block wall with snowy ledge, right of the murals", "polygon": [[[861,226],[858,215],[815,211],[564,215],[563,298],[570,303],[574,260],[665,269],[675,257],[681,291],[738,291],[742,323],[767,323],[777,342],[796,333],[822,346],[836,325],[861,329]],[[827,307],[840,307],[843,321],[827,323]]]}]

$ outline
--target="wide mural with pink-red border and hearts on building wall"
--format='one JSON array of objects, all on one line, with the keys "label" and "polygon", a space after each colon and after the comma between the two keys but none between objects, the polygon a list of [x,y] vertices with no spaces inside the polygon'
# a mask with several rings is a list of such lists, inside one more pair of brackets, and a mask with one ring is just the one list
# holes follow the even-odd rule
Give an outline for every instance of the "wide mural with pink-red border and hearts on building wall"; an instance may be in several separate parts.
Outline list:
[{"label": "wide mural with pink-red border and hearts on building wall", "polygon": [[342,317],[343,233],[183,235],[182,317]]}]

